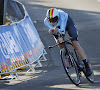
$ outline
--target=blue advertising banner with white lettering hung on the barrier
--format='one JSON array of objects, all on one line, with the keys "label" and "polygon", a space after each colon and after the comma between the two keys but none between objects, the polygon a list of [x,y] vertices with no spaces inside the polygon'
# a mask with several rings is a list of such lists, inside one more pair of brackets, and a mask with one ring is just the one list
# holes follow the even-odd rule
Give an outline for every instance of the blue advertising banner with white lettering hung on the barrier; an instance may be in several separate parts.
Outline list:
[{"label": "blue advertising banner with white lettering hung on the barrier", "polygon": [[43,44],[29,16],[19,23],[0,27],[0,70],[28,57],[37,60]]}]

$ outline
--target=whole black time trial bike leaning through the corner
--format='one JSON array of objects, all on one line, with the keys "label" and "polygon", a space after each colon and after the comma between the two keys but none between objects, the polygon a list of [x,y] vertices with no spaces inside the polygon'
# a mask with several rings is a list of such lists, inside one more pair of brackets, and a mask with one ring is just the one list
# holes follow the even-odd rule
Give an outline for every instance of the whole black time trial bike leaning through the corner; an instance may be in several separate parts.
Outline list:
[{"label": "whole black time trial bike leaning through the corner", "polygon": [[[87,80],[91,83],[94,83],[94,73],[92,73],[90,76],[86,74],[86,69],[83,61],[79,58],[77,51],[72,46],[71,40],[65,40],[63,34],[53,34],[56,39],[59,37],[62,37],[63,41],[59,42],[58,44],[55,44],[53,46],[49,46],[48,48],[51,49],[55,46],[58,46],[59,44],[63,44],[64,48],[60,50],[60,57],[61,61],[64,67],[64,70],[71,80],[71,82],[75,85],[80,84],[80,77],[82,76],[82,72],[86,76]],[[59,40],[59,39],[58,39]],[[90,68],[93,72],[92,65],[90,65]]]}]

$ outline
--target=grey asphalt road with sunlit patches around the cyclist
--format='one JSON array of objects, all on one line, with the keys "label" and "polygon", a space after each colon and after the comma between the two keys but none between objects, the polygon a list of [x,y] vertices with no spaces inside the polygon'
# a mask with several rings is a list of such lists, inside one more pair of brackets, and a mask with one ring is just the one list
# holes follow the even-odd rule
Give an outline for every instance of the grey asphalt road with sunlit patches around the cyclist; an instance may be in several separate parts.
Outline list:
[{"label": "grey asphalt road with sunlit patches around the cyclist", "polygon": [[[0,90],[100,90],[100,0],[19,0],[23,3],[34,23],[47,51],[47,61],[36,72],[19,73],[20,81],[12,80],[0,84]],[[44,25],[46,10],[56,7],[67,12],[79,31],[79,42],[84,48],[88,60],[92,63],[95,83],[89,83],[85,77],[76,87],[66,76],[59,56],[59,48],[48,50],[55,44],[48,28]]]}]

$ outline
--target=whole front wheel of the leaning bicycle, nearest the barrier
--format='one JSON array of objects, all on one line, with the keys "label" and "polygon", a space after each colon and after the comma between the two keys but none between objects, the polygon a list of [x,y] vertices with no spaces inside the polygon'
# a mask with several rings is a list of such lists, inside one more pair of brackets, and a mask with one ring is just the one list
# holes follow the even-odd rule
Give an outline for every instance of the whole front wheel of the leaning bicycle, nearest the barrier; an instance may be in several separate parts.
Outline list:
[{"label": "whole front wheel of the leaning bicycle, nearest the barrier", "polygon": [[79,85],[79,71],[76,62],[74,61],[74,57],[71,54],[69,54],[68,56],[63,50],[61,50],[60,54],[64,70],[68,75],[69,79],[72,81],[73,84]]}]

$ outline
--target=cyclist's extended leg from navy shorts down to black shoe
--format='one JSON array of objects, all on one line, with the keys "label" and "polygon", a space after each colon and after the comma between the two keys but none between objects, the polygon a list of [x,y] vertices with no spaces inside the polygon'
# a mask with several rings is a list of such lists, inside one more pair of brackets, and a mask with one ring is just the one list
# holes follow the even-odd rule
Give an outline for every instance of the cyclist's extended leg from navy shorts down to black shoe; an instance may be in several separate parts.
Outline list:
[{"label": "cyclist's extended leg from navy shorts down to black shoe", "polygon": [[83,62],[85,64],[87,75],[88,76],[91,75],[92,70],[89,67],[89,63],[86,59],[86,54],[85,54],[83,48],[80,46],[80,44],[78,42],[78,32],[77,32],[77,29],[75,28],[75,25],[70,25],[68,27],[68,34],[71,37],[73,47],[75,48],[79,57],[81,58],[81,60],[83,60]]}]

